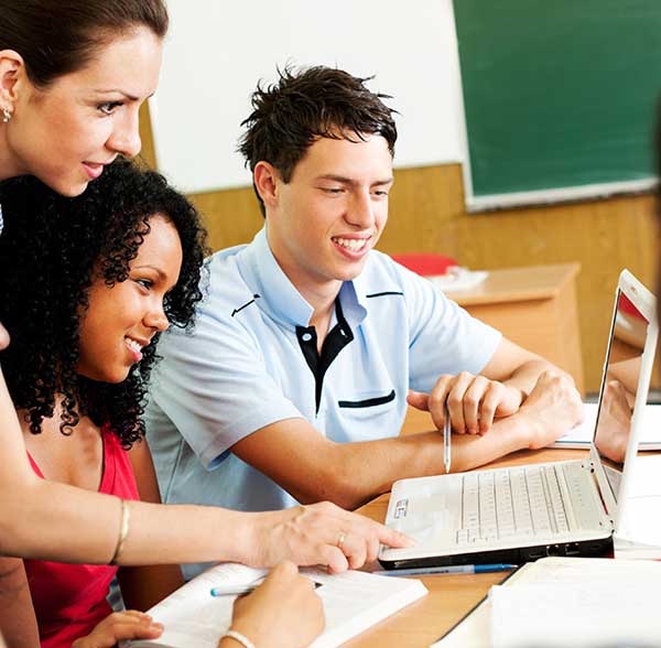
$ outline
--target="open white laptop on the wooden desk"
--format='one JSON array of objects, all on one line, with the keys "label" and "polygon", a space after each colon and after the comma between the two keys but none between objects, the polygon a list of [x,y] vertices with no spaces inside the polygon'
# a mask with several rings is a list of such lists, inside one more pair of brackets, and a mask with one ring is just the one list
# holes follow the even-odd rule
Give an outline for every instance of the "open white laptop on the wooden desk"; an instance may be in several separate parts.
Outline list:
[{"label": "open white laptop on the wooden desk", "polygon": [[589,454],[395,482],[386,523],[416,544],[381,547],[381,564],[522,563],[611,551],[636,465],[657,336],[654,296],[622,271]]}]

